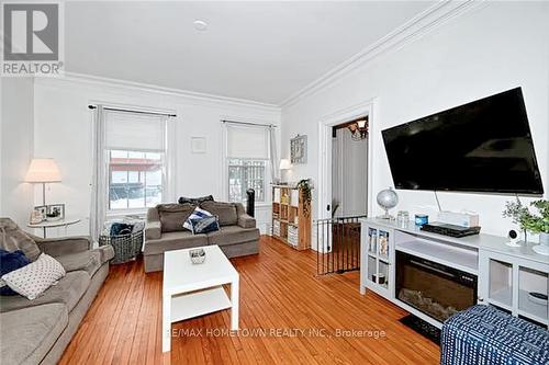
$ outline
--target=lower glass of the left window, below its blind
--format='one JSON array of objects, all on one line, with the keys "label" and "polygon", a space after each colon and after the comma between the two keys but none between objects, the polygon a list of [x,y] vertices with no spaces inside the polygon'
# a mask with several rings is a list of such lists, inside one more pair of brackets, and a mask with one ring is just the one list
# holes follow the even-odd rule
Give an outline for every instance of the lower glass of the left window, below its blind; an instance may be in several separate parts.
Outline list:
[{"label": "lower glass of the left window, below its blind", "polygon": [[109,210],[152,207],[163,201],[164,153],[109,151]]}]

